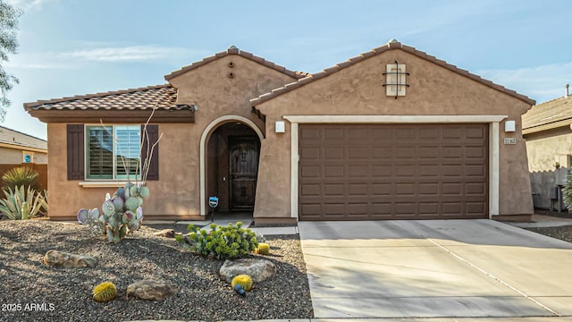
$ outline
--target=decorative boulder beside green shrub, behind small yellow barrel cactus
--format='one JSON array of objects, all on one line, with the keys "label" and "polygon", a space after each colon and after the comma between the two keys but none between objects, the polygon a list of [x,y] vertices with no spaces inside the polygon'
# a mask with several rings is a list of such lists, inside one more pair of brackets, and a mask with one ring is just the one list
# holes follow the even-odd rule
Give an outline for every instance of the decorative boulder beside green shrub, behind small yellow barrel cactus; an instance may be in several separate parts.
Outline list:
[{"label": "decorative boulder beside green shrub, behind small yellow barrel cactus", "polygon": [[241,258],[224,261],[219,272],[221,277],[231,283],[236,275],[248,275],[256,283],[263,282],[276,274],[276,266],[273,262],[257,258]]}]

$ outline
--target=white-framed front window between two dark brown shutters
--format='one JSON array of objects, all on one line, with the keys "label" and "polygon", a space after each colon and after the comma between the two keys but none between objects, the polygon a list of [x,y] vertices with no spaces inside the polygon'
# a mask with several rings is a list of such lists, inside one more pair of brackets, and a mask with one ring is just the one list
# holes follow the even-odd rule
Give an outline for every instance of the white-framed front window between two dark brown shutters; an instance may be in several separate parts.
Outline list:
[{"label": "white-framed front window between two dark brown shutters", "polygon": [[141,176],[139,125],[88,126],[87,179],[135,179]]}]

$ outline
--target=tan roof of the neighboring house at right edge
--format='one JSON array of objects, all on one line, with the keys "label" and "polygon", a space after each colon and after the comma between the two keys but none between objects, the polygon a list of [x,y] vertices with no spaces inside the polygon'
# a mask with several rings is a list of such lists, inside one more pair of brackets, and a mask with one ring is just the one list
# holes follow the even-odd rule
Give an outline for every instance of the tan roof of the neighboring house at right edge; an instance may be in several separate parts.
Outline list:
[{"label": "tan roof of the neighboring house at right edge", "polygon": [[572,123],[572,95],[533,106],[522,115],[523,134],[550,130]]}]

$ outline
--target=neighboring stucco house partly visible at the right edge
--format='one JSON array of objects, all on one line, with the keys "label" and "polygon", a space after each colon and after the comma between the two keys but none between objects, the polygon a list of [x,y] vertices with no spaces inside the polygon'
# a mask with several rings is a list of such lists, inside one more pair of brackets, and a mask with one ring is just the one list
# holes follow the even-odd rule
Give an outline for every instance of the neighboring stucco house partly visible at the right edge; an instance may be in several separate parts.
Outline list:
[{"label": "neighboring stucco house partly visible at the right edge", "polygon": [[572,163],[572,96],[533,106],[522,116],[535,208],[563,210],[559,188]]}]

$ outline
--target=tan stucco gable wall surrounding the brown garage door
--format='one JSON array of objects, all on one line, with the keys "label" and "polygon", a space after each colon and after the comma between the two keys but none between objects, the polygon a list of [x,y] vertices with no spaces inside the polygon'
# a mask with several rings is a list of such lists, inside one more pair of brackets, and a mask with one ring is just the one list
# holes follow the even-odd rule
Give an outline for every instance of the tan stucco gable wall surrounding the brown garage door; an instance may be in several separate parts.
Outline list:
[{"label": "tan stucco gable wall surrounding the brown garage door", "polygon": [[[387,97],[382,84],[386,64],[407,64],[406,97]],[[283,115],[490,115],[507,114],[517,131],[505,133],[500,124],[499,214],[532,214],[532,196],[521,135],[521,114],[530,106],[456,72],[401,50],[391,50],[315,80],[257,106],[266,114],[258,172],[255,216],[290,216],[290,127],[274,133]],[[288,122],[287,122],[288,124]],[[517,139],[504,145],[505,137]]]}]

